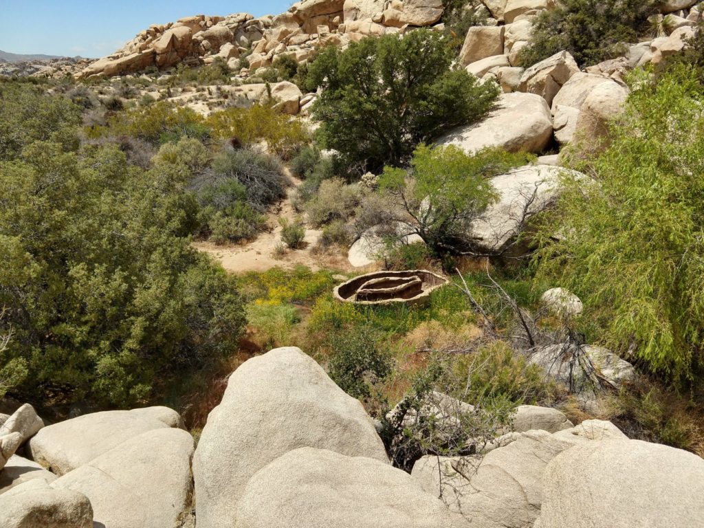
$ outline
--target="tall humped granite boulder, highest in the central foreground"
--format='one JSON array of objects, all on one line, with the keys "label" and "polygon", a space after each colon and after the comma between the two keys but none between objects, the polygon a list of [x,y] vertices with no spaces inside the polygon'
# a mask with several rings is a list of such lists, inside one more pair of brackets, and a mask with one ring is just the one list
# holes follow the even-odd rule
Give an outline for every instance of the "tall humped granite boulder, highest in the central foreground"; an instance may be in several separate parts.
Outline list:
[{"label": "tall humped granite boulder, highest in the central foreground", "polygon": [[299,348],[276,348],[246,361],[208,416],[194,457],[199,528],[232,526],[253,474],[306,446],[387,462],[359,401]]}]

